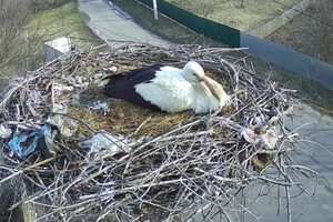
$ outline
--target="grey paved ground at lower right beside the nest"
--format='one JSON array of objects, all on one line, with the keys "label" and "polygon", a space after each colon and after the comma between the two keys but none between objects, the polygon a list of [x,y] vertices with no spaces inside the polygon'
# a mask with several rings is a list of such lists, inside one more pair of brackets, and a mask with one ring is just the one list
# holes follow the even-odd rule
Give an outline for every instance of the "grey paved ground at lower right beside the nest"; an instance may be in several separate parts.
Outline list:
[{"label": "grey paved ground at lower right beside the nest", "polygon": [[[300,103],[295,107],[299,118],[287,121],[287,127],[297,130],[303,139],[300,150],[292,152],[292,158],[299,165],[304,165],[319,173],[319,184],[316,179],[299,178],[303,182],[303,188],[309,194],[300,194],[300,190],[291,189],[291,218],[293,222],[331,222],[333,221],[333,117],[317,112],[311,107]],[[249,198],[255,200],[261,184],[253,183],[249,189]],[[284,190],[281,191],[285,195]],[[285,200],[281,203],[280,215],[278,215],[276,189],[271,190],[265,196],[260,198],[254,205],[255,215],[261,221],[287,221]],[[246,221],[256,221],[249,216]]]}]

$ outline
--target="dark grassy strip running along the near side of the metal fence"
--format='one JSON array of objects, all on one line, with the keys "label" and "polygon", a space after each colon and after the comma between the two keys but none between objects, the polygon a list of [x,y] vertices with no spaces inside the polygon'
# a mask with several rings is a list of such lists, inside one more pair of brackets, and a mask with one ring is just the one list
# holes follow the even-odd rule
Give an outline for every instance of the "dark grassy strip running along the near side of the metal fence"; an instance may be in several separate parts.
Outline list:
[{"label": "dark grassy strip running along the near side of the metal fence", "polygon": [[[169,0],[171,2],[172,0]],[[209,38],[202,37],[180,23],[160,14],[159,20],[153,19],[153,11],[137,0],[113,0],[113,2],[130,13],[141,27],[151,30],[158,36],[174,43],[198,43],[208,47],[225,47]],[[249,57],[245,53],[233,53],[233,57]],[[297,90],[296,98],[313,108],[333,114],[333,90],[315,81],[300,77],[279,65],[249,57],[253,62],[256,73],[263,77],[270,75],[273,81],[280,82],[287,88]]]}]

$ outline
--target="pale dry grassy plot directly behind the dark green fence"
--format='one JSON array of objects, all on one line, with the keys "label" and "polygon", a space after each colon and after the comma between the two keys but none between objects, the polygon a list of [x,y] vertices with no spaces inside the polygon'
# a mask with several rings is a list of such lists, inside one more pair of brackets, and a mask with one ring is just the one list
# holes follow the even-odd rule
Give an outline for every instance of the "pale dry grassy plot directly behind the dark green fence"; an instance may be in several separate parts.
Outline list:
[{"label": "pale dry grassy plot directly behind the dark green fence", "polygon": [[[200,17],[249,31],[282,14],[302,0],[168,0]],[[283,6],[285,4],[285,6]]]}]

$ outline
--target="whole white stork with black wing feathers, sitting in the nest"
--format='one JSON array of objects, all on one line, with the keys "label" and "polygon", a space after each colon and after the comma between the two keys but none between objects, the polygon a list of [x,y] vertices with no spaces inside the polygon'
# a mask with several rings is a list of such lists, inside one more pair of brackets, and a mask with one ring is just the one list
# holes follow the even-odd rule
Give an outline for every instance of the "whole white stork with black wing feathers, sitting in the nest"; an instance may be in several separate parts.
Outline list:
[{"label": "whole white stork with black wing feathers, sitting in the nest", "polygon": [[205,77],[202,67],[155,64],[110,77],[104,93],[157,111],[196,113],[216,111],[229,102],[222,85]]}]

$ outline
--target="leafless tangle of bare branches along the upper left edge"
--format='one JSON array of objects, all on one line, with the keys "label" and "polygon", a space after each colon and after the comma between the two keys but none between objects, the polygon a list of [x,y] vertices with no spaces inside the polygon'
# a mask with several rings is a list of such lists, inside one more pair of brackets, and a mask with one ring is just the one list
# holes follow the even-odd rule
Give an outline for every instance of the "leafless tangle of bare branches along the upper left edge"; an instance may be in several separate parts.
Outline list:
[{"label": "leafless tangle of bare branches along the upper left edge", "polygon": [[[30,1],[0,1],[0,77],[36,65],[40,52],[41,36],[38,30],[26,29],[31,13]],[[39,63],[39,62],[38,62]]]}]

